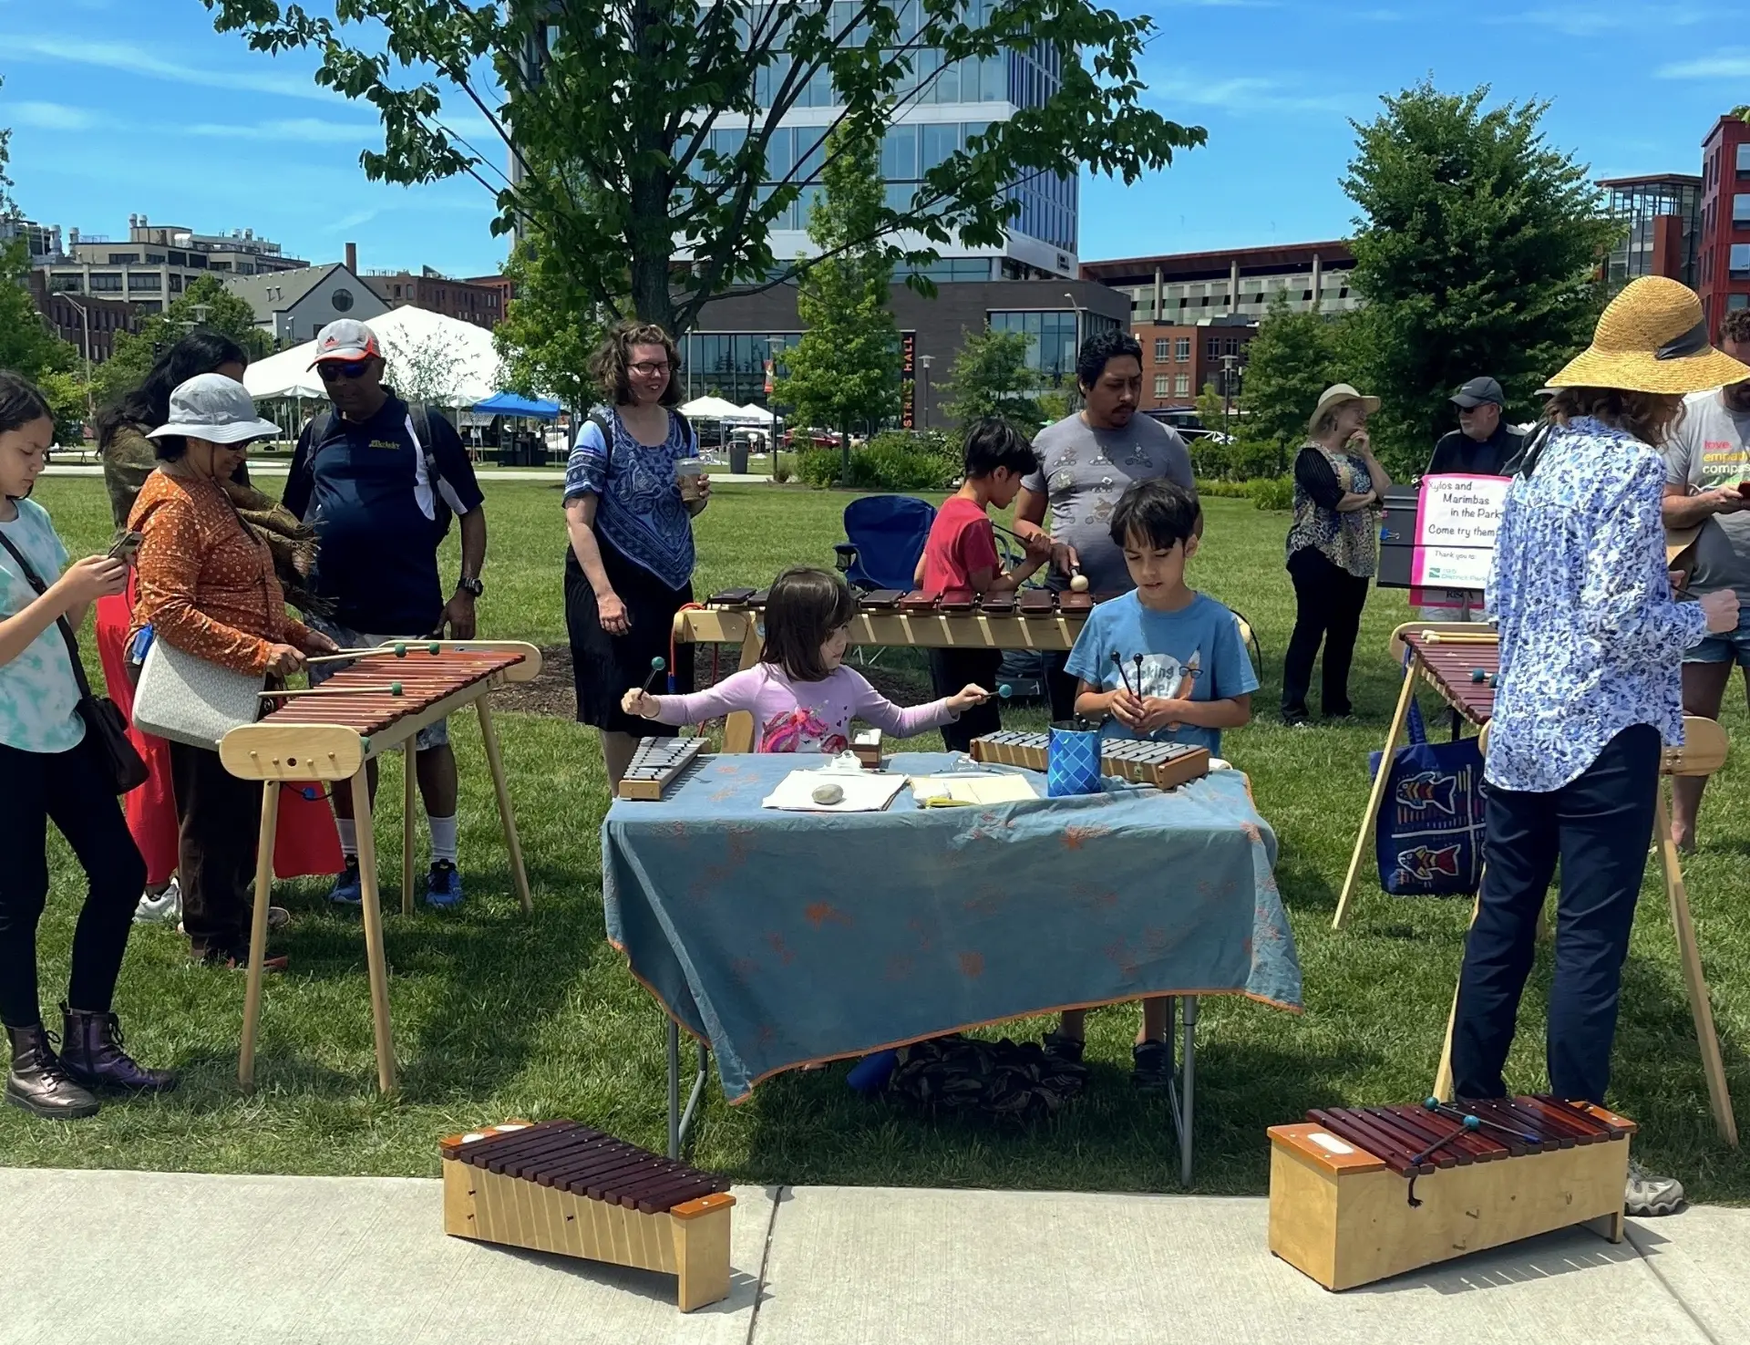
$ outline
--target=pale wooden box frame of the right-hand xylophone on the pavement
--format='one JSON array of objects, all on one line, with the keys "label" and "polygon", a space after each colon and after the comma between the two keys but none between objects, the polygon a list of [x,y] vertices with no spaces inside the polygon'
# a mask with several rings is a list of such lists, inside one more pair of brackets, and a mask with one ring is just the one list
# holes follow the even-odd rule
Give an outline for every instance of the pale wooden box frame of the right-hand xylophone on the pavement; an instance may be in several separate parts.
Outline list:
[{"label": "pale wooden box frame of the right-hand xylophone on the pavement", "polygon": [[[1353,1140],[1314,1123],[1270,1126],[1270,1252],[1339,1291],[1575,1224],[1622,1242],[1634,1124],[1582,1110],[1624,1133],[1440,1168],[1416,1179],[1414,1207],[1407,1179]],[[1348,1152],[1334,1152],[1334,1142]]]}]

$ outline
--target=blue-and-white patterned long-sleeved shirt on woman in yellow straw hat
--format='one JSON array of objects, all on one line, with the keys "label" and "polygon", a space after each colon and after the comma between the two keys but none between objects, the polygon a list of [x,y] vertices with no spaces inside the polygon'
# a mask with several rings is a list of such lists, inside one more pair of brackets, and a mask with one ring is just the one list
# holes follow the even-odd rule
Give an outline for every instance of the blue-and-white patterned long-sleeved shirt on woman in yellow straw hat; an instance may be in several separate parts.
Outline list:
[{"label": "blue-and-white patterned long-sleeved shirt on woman in yellow straw hat", "polygon": [[1549,793],[1636,723],[1684,741],[1680,665],[1704,634],[1664,567],[1664,461],[1591,417],[1556,427],[1507,492],[1489,573],[1500,615],[1486,778]]}]

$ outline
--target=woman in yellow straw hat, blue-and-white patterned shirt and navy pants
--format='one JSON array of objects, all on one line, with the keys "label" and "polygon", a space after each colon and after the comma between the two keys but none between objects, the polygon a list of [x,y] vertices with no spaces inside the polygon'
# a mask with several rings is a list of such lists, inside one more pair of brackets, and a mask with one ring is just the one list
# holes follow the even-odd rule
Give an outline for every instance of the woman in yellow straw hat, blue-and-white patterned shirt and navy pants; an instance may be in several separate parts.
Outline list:
[{"label": "woman in yellow straw hat, blue-and-white patterned shirt and navy pants", "polygon": [[[1740,378],[1750,368],[1708,345],[1701,301],[1659,277],[1628,285],[1591,347],[1550,378],[1550,431],[1507,494],[1489,574],[1502,671],[1489,867],[1452,1026],[1463,1098],[1507,1091],[1502,1068],[1559,860],[1549,1084],[1605,1100],[1661,750],[1684,736],[1678,669],[1704,629],[1738,625],[1731,590],[1671,595],[1659,447],[1684,394]],[[1675,1180],[1629,1166],[1629,1214],[1670,1214],[1682,1198]]]}]

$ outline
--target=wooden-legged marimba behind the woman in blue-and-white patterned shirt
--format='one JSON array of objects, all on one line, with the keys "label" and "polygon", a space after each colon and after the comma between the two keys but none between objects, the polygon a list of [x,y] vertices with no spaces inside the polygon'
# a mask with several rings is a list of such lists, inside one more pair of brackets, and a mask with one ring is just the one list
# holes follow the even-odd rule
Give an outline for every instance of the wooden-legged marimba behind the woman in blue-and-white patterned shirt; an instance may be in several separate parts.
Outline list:
[{"label": "wooden-legged marimba behind the woman in blue-and-white patterned shirt", "polygon": [[[1360,834],[1354,837],[1354,853],[1349,856],[1349,874],[1342,883],[1342,895],[1337,898],[1337,914],[1332,928],[1340,930],[1349,918],[1351,900],[1360,883],[1362,862],[1374,839],[1374,823],[1379,816],[1379,799],[1386,788],[1388,767],[1404,734],[1409,718],[1410,699],[1418,687],[1433,687],[1440,699],[1470,725],[1482,734],[1488,750],[1489,720],[1494,715],[1494,681],[1502,665],[1500,639],[1493,627],[1454,622],[1409,622],[1391,632],[1391,657],[1404,665],[1404,690],[1398,694],[1398,706],[1391,716],[1391,730],[1386,736],[1386,750],[1381,758],[1379,774],[1367,799],[1367,813],[1362,816]],[[1726,765],[1731,744],[1726,730],[1715,720],[1698,716],[1684,718],[1684,746],[1666,748],[1661,764],[1664,776],[1706,778]],[[1726,1061],[1720,1054],[1720,1039],[1713,1026],[1713,1003],[1708,998],[1708,982],[1701,972],[1701,949],[1696,942],[1696,921],[1689,911],[1689,890],[1684,884],[1684,863],[1671,841],[1671,813],[1664,802],[1664,786],[1659,786],[1659,802],[1654,811],[1654,844],[1659,848],[1659,862],[1664,869],[1666,904],[1671,909],[1671,928],[1676,933],[1678,958],[1684,967],[1684,986],[1689,995],[1689,1012],[1696,1025],[1696,1042],[1701,1047],[1701,1068],[1708,1081],[1708,1105],[1713,1110],[1713,1126],[1726,1144],[1738,1147],[1738,1117],[1732,1112],[1732,1095],[1726,1088]],[[1472,909],[1475,919],[1475,907]],[[1452,993],[1452,1016],[1458,1014],[1458,991]],[[1446,1047],[1440,1053],[1440,1067],[1435,1075],[1435,1093],[1442,1098],[1452,1091],[1452,1019],[1446,1025]]]}]

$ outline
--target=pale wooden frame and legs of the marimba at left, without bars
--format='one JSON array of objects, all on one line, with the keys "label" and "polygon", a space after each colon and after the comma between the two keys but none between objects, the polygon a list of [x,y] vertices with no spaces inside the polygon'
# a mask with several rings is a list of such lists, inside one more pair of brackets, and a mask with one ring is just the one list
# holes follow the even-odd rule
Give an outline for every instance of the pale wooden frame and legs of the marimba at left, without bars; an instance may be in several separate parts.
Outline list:
[{"label": "pale wooden frame and legs of the marimba at left, without bars", "polygon": [[[352,814],[359,837],[359,884],[362,890],[360,914],[364,925],[364,958],[371,984],[371,1028],[376,1047],[376,1084],[383,1093],[396,1088],[396,1047],[388,1019],[388,963],[383,954],[383,914],[376,870],[376,832],[371,816],[371,788],[368,764],[396,748],[404,748],[404,793],[401,827],[401,912],[413,914],[413,806],[416,774],[413,767],[413,739],[430,723],[469,706],[480,715],[480,737],[492,769],[492,790],[499,804],[499,821],[504,827],[504,844],[511,856],[511,876],[523,914],[534,911],[528,895],[528,874],[523,867],[523,849],[516,835],[516,816],[511,807],[511,790],[504,778],[504,758],[499,751],[499,732],[486,704],[490,694],[509,683],[534,681],[541,676],[541,650],[522,641],[504,639],[408,639],[382,644],[371,653],[392,653],[397,644],[408,648],[408,658],[438,644],[441,650],[492,650],[522,655],[520,664],[457,688],[434,701],[425,709],[404,715],[374,734],[359,734],[345,725],[273,723],[271,718],[233,729],[219,743],[219,760],[240,779],[259,779],[268,786],[285,781],[329,783],[341,781],[352,790]],[[366,653],[359,655],[369,657]],[[338,697],[341,699],[341,697]],[[238,1051],[236,1079],[243,1088],[256,1082],[256,1040],[261,1028],[261,984],[268,954],[268,900],[273,891],[273,842],[278,832],[280,792],[261,792],[261,832],[256,853],[256,902],[248,928],[248,979],[243,989],[243,1040]]]}]

